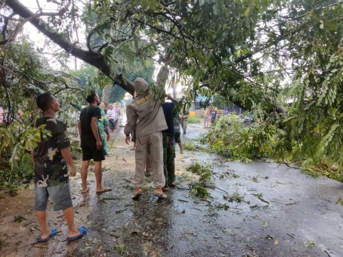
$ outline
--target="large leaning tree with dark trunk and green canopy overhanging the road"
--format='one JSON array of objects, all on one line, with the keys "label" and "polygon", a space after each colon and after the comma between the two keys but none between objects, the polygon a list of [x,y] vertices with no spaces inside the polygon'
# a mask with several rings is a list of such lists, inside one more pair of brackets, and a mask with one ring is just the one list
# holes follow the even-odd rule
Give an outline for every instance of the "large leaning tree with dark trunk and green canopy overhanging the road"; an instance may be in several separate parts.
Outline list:
[{"label": "large leaning tree with dark trunk and green canopy overhanging the road", "polygon": [[283,113],[278,124],[292,156],[342,162],[342,1],[53,2],[52,13],[1,3],[0,45],[8,47],[30,22],[132,95],[126,67],[170,55],[169,66],[191,77],[189,96],[220,95],[246,110]]}]

